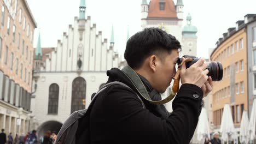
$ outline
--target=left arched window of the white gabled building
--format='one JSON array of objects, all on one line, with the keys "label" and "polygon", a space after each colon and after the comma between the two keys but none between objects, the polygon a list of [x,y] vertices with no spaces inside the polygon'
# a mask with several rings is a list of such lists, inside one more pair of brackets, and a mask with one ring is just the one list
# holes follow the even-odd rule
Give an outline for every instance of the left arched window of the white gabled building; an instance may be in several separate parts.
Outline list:
[{"label": "left arched window of the white gabled building", "polygon": [[59,86],[53,83],[49,87],[48,114],[58,114]]}]

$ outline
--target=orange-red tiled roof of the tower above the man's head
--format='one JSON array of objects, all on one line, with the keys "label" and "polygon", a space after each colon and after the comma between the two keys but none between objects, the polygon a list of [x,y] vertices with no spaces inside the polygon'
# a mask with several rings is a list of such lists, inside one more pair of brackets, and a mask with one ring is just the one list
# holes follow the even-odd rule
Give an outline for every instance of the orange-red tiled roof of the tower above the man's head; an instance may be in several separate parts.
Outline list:
[{"label": "orange-red tiled roof of the tower above the man's head", "polygon": [[[165,10],[160,10],[160,3],[165,3]],[[177,18],[172,0],[152,0],[149,3],[148,18]]]}]

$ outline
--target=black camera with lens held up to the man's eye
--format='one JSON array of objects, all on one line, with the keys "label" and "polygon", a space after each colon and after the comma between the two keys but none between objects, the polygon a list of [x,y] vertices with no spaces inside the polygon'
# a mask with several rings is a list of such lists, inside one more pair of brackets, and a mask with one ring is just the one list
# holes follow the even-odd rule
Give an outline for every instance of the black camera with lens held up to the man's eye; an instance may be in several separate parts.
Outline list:
[{"label": "black camera with lens held up to the man's eye", "polygon": [[[200,58],[197,58],[195,56],[188,56],[188,55],[185,55],[183,57],[184,58],[193,58],[192,61],[185,63],[186,68],[189,68],[191,65],[193,65],[194,63],[196,63],[200,59]],[[179,58],[177,63],[181,64],[182,63],[182,58]],[[220,62],[210,62],[210,63],[208,63],[208,67],[206,69],[209,70],[209,73],[207,75],[211,76],[213,81],[222,80],[222,78],[223,78],[222,63],[220,63]]]}]

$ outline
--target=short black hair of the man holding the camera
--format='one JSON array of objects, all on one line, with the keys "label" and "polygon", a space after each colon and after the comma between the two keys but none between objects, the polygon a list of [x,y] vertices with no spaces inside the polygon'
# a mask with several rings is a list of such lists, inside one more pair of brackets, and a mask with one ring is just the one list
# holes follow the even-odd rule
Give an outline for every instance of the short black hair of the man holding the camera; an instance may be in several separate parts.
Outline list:
[{"label": "short black hair of the man holding the camera", "polygon": [[181,50],[181,43],[173,35],[160,28],[145,28],[127,41],[124,57],[131,68],[138,69],[148,56],[154,54],[164,60],[163,54],[175,49]]}]

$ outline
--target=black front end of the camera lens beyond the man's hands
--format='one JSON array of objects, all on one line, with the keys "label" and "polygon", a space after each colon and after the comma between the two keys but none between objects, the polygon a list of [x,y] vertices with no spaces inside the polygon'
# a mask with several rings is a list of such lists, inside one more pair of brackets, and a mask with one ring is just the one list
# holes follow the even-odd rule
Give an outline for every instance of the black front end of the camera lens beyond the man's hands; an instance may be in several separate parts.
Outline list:
[{"label": "black front end of the camera lens beyond the man's hands", "polygon": [[210,62],[208,63],[206,69],[209,70],[208,76],[212,77],[212,81],[220,81],[223,77],[223,67],[220,62]]}]

